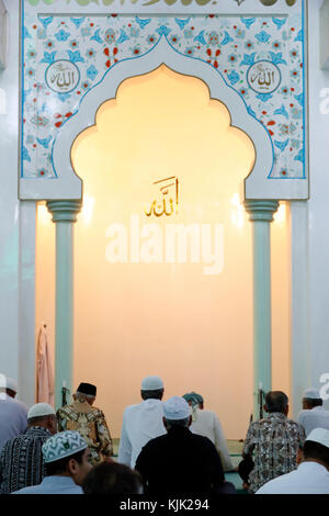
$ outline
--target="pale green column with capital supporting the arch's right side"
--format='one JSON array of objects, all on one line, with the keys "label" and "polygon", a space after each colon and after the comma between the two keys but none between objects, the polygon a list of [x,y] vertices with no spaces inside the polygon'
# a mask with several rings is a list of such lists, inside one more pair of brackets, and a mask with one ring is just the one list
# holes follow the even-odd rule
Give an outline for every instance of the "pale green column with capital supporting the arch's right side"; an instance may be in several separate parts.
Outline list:
[{"label": "pale green column with capital supporting the arch's right side", "polygon": [[277,201],[245,201],[253,223],[253,418],[259,418],[259,389],[272,389],[270,223]]}]

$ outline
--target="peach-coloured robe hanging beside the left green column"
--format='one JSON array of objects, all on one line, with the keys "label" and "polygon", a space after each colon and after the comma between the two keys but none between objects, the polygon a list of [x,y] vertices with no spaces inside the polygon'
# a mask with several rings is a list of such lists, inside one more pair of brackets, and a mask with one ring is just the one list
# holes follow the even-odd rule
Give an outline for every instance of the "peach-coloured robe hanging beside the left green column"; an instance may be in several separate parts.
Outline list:
[{"label": "peach-coloured robe hanging beside the left green column", "polygon": [[49,351],[47,332],[42,328],[37,340],[37,403],[54,406],[54,370]]}]

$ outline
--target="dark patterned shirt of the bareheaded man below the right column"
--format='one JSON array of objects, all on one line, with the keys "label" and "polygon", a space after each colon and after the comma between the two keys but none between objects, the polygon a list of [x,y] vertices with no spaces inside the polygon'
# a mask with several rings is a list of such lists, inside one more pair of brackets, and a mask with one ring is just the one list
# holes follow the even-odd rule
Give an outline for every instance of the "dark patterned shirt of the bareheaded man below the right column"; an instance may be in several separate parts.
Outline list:
[{"label": "dark patterned shirt of the bareheaded man below the right column", "polygon": [[256,493],[270,480],[295,470],[297,450],[304,440],[303,427],[279,412],[251,423],[242,450],[242,456],[253,452],[249,492]]}]

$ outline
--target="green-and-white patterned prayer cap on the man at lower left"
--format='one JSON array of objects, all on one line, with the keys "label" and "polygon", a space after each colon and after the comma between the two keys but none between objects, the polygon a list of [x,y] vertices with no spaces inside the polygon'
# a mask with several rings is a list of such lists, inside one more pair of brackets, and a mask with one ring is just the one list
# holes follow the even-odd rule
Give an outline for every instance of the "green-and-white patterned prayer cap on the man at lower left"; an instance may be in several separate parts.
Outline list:
[{"label": "green-and-white patterned prayer cap on the man at lower left", "polygon": [[43,456],[46,463],[55,462],[78,451],[86,450],[88,445],[76,430],[66,430],[49,437],[43,445]]}]

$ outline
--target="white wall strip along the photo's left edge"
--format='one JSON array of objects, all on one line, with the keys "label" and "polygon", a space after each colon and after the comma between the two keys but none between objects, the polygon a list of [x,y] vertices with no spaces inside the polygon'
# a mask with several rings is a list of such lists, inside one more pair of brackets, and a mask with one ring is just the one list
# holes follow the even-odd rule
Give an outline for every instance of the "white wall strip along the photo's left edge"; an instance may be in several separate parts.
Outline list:
[{"label": "white wall strip along the photo's left edge", "polygon": [[18,200],[19,0],[4,4],[10,26],[7,68],[0,70],[0,371],[19,380],[19,397],[32,404],[35,205]]}]

